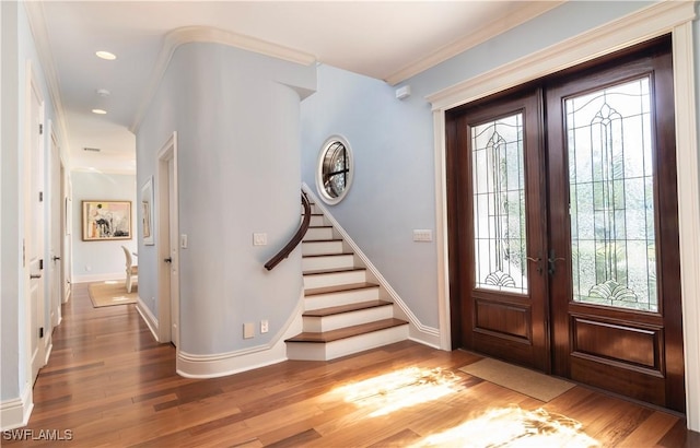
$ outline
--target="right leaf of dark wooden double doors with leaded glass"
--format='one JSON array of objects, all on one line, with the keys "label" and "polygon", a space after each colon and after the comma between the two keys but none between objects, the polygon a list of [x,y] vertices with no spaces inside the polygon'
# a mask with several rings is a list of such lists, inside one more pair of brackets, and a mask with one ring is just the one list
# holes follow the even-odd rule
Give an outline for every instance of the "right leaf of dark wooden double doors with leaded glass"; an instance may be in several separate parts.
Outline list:
[{"label": "right leaf of dark wooden double doors with leaded glass", "polygon": [[682,412],[668,40],[547,89],[553,372]]}]

